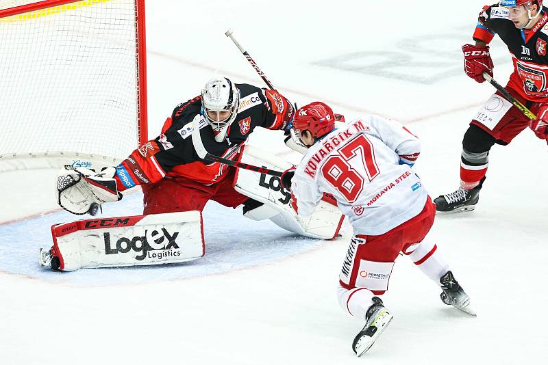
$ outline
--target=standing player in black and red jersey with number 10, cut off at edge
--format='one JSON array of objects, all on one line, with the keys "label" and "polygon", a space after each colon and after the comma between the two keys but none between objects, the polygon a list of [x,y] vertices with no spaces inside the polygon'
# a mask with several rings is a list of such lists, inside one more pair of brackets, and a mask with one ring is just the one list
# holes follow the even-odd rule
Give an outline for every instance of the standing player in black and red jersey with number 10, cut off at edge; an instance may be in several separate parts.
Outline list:
[{"label": "standing player in black and red jersey with number 10, cut off at edge", "polygon": [[506,90],[536,114],[529,120],[499,92],[476,113],[462,140],[460,188],[434,200],[438,213],[472,211],[485,180],[488,154],[494,144],[506,146],[527,126],[548,142],[548,10],[543,0],[502,0],[479,14],[473,39],[464,44],[464,72],[475,81],[493,77],[488,43],[493,37],[508,46],[514,72]]}]

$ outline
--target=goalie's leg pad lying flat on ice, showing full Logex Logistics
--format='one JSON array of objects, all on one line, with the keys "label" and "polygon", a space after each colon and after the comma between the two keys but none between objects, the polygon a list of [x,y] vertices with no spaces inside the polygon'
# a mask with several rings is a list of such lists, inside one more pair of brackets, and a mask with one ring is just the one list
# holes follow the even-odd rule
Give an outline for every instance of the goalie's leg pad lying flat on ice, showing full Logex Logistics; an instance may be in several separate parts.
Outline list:
[{"label": "goalie's leg pad lying flat on ice, showing full Logex Logistics", "polygon": [[51,234],[40,266],[60,271],[184,262],[206,253],[199,211],[86,219],[55,224]]}]

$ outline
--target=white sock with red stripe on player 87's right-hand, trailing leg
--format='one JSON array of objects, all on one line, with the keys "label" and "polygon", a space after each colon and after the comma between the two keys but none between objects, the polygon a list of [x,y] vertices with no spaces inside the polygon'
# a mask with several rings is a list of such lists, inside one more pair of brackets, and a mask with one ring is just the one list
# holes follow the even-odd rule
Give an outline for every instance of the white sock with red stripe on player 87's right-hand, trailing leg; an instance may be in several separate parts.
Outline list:
[{"label": "white sock with red stripe on player 87's right-hand, trailing leg", "polygon": [[438,252],[438,247],[428,239],[417,245],[414,251],[404,252],[428,278],[440,284],[442,275],[449,271],[449,264]]}]

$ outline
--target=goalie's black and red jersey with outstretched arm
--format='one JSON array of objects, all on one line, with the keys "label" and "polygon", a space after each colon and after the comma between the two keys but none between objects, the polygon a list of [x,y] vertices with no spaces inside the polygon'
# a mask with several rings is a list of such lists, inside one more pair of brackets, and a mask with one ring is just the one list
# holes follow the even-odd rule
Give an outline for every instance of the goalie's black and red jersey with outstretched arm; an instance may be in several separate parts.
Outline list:
[{"label": "goalie's black and red jersey with outstretched arm", "polygon": [[[225,141],[215,141],[213,129],[205,119],[199,124],[206,150],[233,160],[237,159],[240,146],[257,126],[286,129],[295,114],[291,103],[274,90],[245,83],[236,84],[236,87],[240,92],[238,113]],[[183,176],[203,185],[217,183],[225,177],[227,165],[204,161],[192,145],[192,120],[203,113],[201,99],[197,96],[177,105],[164,123],[162,133],[134,150],[116,167],[119,191],[153,184],[166,176]]]}]

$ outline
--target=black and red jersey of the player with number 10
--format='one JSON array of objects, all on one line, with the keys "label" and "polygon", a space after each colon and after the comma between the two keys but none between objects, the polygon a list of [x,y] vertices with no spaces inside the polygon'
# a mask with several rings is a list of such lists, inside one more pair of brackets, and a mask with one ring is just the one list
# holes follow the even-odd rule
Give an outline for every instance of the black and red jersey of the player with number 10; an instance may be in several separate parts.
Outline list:
[{"label": "black and red jersey of the player with number 10", "polygon": [[532,29],[518,29],[508,18],[509,10],[499,4],[486,7],[479,14],[473,38],[485,43],[495,34],[508,46],[514,63],[508,86],[526,100],[548,101],[548,13],[543,6],[540,20]]}]

